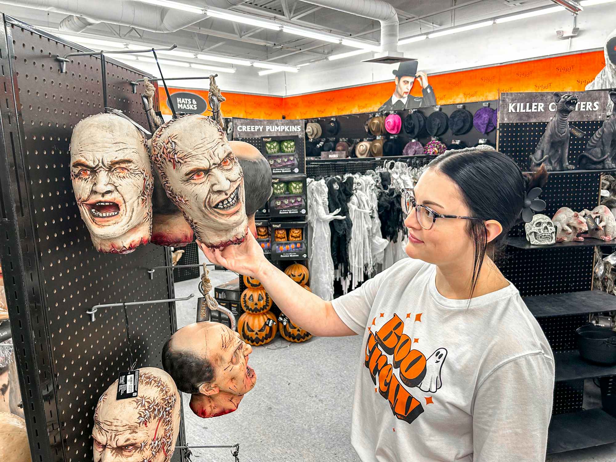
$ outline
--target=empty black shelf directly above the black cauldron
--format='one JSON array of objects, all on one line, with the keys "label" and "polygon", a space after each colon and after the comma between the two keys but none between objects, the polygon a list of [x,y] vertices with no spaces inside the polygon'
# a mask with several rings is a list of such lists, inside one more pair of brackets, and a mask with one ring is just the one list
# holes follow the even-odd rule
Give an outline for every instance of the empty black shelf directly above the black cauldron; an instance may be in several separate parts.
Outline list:
[{"label": "empty black shelf directly above the black cauldron", "polygon": [[599,290],[524,297],[536,318],[616,310],[616,297]]}]

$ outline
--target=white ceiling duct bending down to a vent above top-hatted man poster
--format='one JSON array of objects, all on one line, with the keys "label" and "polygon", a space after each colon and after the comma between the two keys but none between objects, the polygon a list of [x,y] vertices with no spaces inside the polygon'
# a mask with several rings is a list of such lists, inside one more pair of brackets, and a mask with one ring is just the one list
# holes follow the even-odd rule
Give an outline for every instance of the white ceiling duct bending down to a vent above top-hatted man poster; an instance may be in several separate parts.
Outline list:
[{"label": "white ceiling duct bending down to a vent above top-hatted man poster", "polygon": [[392,64],[408,61],[398,51],[398,14],[395,8],[383,0],[304,0],[307,3],[344,11],[381,23],[381,51],[365,62]]}]

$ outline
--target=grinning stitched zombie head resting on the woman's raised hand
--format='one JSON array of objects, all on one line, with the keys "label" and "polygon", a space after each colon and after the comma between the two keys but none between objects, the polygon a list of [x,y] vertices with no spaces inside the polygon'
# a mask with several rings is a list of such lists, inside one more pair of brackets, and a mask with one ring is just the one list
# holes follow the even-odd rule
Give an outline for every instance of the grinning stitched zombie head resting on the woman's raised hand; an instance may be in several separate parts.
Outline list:
[{"label": "grinning stitched zombie head resting on the woman's raised hand", "polygon": [[189,114],[163,124],[152,137],[152,161],[195,237],[212,248],[243,242],[248,224],[244,177],[213,120]]}]

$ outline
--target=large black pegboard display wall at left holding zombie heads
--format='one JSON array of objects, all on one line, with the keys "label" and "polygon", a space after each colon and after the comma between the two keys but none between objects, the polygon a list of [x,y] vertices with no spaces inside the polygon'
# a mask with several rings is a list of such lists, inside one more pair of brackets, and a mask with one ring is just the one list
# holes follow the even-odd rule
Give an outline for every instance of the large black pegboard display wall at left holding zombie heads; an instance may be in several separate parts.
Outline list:
[{"label": "large black pegboard display wall at left holding zombie heads", "polygon": [[[18,354],[26,426],[34,461],[91,460],[95,405],[119,371],[127,370],[129,357],[123,311],[101,309],[92,322],[86,310],[172,298],[171,272],[156,273],[153,280],[147,273],[170,264],[169,253],[154,245],[128,255],[94,249],[76,206],[68,145],[79,120],[103,111],[100,59],[74,57],[60,73],[55,56],[83,49],[12,18],[5,21],[8,47],[0,46],[0,59],[9,88],[0,105],[7,124],[0,157],[14,177],[3,176],[0,185],[2,230],[9,238],[2,246],[2,266],[28,290],[18,294],[22,288],[15,286],[9,298],[12,320],[29,330]],[[147,126],[140,95],[132,94],[129,83],[143,76],[107,62],[107,105]],[[7,203],[10,194],[14,209]],[[11,248],[17,242],[20,251]],[[174,309],[136,306],[128,317],[137,367],[161,367],[161,347],[176,328]],[[179,451],[173,460],[182,460]]]}]

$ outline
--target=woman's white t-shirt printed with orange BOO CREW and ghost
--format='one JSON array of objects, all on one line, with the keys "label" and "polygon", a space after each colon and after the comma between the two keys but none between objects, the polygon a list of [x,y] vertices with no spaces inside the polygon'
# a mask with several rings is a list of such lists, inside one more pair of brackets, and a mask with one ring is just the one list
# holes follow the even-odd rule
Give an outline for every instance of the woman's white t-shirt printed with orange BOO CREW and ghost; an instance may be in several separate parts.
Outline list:
[{"label": "woman's white t-shirt printed with orange BOO CREW and ghost", "polygon": [[468,300],[405,258],[332,301],[363,335],[351,442],[363,462],[545,462],[554,356],[513,284]]}]

